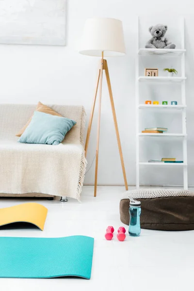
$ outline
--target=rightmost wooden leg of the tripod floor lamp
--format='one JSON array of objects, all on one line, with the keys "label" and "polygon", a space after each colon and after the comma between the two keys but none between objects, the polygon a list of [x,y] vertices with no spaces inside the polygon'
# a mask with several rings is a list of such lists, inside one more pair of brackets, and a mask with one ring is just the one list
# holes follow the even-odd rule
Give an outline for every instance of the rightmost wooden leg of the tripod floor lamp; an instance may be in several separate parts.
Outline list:
[{"label": "rightmost wooden leg of the tripod floor lamp", "polygon": [[127,183],[127,177],[126,177],[126,172],[125,172],[125,165],[124,165],[124,160],[123,160],[121,141],[120,141],[120,136],[119,136],[119,131],[118,131],[118,124],[117,124],[117,120],[116,120],[116,112],[115,112],[115,108],[114,108],[113,92],[112,92],[112,88],[111,88],[111,81],[110,81],[110,77],[109,77],[109,70],[108,70],[108,65],[107,65],[106,60],[105,60],[105,73],[106,73],[106,79],[107,79],[107,84],[108,84],[108,89],[109,89],[109,95],[110,95],[110,99],[111,99],[114,127],[115,127],[115,131],[116,131],[116,138],[117,138],[118,149],[119,149],[121,165],[122,165],[122,170],[123,170],[123,177],[124,177],[124,181],[125,181],[125,188],[126,188],[126,190],[128,190],[128,183]]}]

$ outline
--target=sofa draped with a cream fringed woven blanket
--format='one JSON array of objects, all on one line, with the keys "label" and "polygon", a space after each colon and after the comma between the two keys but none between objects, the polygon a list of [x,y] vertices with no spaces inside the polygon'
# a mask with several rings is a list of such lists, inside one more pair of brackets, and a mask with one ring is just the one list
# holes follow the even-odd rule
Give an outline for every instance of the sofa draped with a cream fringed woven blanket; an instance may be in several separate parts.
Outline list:
[{"label": "sofa draped with a cream fringed woven blanket", "polygon": [[36,105],[0,104],[0,196],[60,196],[81,200],[86,160],[83,106],[48,105],[77,122],[58,146],[18,143],[16,132]]}]

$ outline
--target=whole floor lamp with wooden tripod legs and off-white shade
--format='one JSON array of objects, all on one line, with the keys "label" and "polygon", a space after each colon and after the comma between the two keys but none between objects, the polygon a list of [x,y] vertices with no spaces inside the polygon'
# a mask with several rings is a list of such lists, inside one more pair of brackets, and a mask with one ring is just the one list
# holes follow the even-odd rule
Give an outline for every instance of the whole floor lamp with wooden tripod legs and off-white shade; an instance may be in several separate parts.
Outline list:
[{"label": "whole floor lamp with wooden tripod legs and off-white shade", "polygon": [[114,108],[113,93],[109,77],[109,70],[107,61],[104,57],[115,57],[125,55],[125,43],[123,35],[122,22],[113,18],[90,18],[86,20],[83,37],[81,43],[81,54],[89,56],[101,57],[100,67],[97,75],[97,86],[95,90],[95,97],[92,104],[92,110],[89,119],[88,131],[85,142],[85,155],[87,155],[90,132],[92,127],[92,120],[97,99],[97,91],[99,87],[99,107],[98,107],[98,122],[97,122],[97,150],[96,150],[96,169],[95,169],[95,188],[94,196],[97,195],[97,168],[98,168],[98,152],[99,152],[99,133],[100,133],[100,111],[101,111],[101,96],[102,96],[102,76],[105,71],[108,90],[111,100],[111,107],[113,112],[114,127],[116,131],[116,138],[123,170],[123,177],[125,181],[125,188],[128,190],[125,165],[123,160],[123,153],[119,137],[118,125],[116,120],[116,113]]}]

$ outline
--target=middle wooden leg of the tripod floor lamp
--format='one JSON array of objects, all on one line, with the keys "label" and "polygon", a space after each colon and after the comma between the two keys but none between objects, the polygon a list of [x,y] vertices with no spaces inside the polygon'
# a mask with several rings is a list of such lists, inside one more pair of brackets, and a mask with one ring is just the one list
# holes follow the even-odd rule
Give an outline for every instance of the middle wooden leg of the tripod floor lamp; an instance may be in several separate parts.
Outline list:
[{"label": "middle wooden leg of the tripod floor lamp", "polygon": [[95,183],[94,183],[94,196],[97,195],[97,168],[98,168],[98,151],[99,151],[99,137],[100,137],[100,113],[101,113],[101,97],[102,97],[102,74],[103,74],[103,59],[100,65],[100,82],[99,82],[99,108],[97,120],[97,150],[96,150],[96,168],[95,168]]}]

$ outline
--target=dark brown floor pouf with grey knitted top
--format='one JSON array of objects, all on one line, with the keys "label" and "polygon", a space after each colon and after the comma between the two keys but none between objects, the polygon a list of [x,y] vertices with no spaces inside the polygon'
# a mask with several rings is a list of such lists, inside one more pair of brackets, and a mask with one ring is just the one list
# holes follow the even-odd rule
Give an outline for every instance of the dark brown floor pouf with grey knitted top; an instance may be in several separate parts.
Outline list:
[{"label": "dark brown floor pouf with grey knitted top", "polygon": [[141,201],[141,228],[194,229],[194,192],[177,189],[129,191],[120,201],[120,219],[126,225],[129,225],[129,196]]}]

